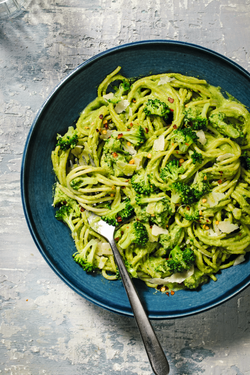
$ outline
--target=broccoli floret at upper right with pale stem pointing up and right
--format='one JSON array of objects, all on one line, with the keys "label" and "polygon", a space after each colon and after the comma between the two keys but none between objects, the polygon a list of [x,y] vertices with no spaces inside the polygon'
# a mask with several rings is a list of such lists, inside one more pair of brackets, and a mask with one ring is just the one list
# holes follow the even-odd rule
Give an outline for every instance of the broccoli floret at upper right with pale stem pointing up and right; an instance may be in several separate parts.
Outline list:
[{"label": "broccoli floret at upper right with pale stem pointing up and right", "polygon": [[190,126],[193,130],[205,130],[208,125],[206,113],[209,103],[206,103],[202,109],[202,113],[198,115],[197,108],[190,107],[184,112],[184,124]]}]

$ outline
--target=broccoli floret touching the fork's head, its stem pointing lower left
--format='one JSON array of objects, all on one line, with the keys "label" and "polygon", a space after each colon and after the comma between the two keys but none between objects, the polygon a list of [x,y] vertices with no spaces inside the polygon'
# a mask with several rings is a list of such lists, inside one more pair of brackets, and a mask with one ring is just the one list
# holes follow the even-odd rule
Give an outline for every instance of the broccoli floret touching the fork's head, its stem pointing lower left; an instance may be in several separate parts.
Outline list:
[{"label": "broccoli floret touching the fork's head, its stem pointing lower left", "polygon": [[130,219],[133,214],[134,208],[130,204],[130,199],[127,198],[122,203],[112,208],[107,215],[102,216],[101,218],[108,223],[108,225],[119,226],[122,221]]}]

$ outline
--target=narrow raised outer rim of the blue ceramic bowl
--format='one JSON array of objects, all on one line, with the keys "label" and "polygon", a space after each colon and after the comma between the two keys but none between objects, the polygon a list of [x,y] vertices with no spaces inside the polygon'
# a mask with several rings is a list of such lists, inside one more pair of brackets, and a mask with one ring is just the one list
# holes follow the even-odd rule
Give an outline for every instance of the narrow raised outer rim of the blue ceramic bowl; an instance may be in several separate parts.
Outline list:
[{"label": "narrow raised outer rim of the blue ceramic bowl", "polygon": [[[63,86],[68,80],[70,80],[72,76],[77,74],[78,71],[87,67],[90,63],[94,62],[95,60],[98,60],[100,57],[108,55],[108,54],[110,54],[111,52],[114,52],[114,51],[130,48],[131,46],[133,47],[133,46],[136,46],[136,45],[147,45],[147,44],[148,45],[149,44],[166,44],[166,45],[175,45],[175,46],[183,45],[183,46],[189,46],[190,48],[196,49],[197,51],[208,52],[210,55],[214,55],[215,57],[220,58],[221,60],[224,60],[225,62],[227,62],[227,64],[232,65],[234,68],[236,68],[238,71],[240,71],[242,75],[245,75],[245,76],[247,76],[247,78],[250,79],[250,73],[247,72],[244,68],[242,68],[240,65],[238,65],[234,61],[230,60],[228,57],[223,56],[220,53],[215,52],[215,51],[213,51],[209,48],[199,46],[199,45],[193,44],[193,43],[182,42],[182,41],[178,41],[178,40],[173,41],[173,40],[164,40],[164,39],[152,39],[152,40],[141,40],[141,41],[137,41],[137,42],[126,43],[126,44],[122,44],[122,45],[107,49],[106,51],[100,52],[99,54],[97,54],[93,57],[90,57],[88,60],[86,60],[85,62],[83,62],[79,66],[77,66],[77,68],[72,70],[72,72],[70,72],[68,75],[66,75],[66,77],[64,77],[62,79],[62,81],[60,81],[54,87],[54,89],[51,91],[51,93],[45,99],[44,103],[41,105],[40,109],[38,110],[38,112],[37,112],[37,114],[36,114],[36,116],[35,116],[35,118],[32,122],[32,125],[30,127],[30,130],[29,130],[29,133],[28,133],[25,145],[24,145],[23,157],[22,157],[22,162],[21,162],[21,177],[20,177],[20,179],[21,179],[21,200],[22,200],[22,205],[23,205],[23,210],[24,210],[24,216],[25,216],[30,234],[31,234],[40,254],[44,258],[44,260],[46,261],[48,266],[50,266],[50,268],[54,271],[54,273],[56,273],[56,275],[66,285],[68,285],[68,287],[70,287],[73,291],[75,291],[81,297],[84,297],[84,299],[88,300],[89,302],[92,302],[93,304],[95,304],[95,305],[97,305],[97,306],[99,306],[103,309],[106,309],[108,311],[114,312],[114,313],[119,314],[119,315],[124,315],[124,316],[127,316],[127,317],[133,317],[134,316],[133,312],[132,311],[131,312],[129,312],[129,311],[124,312],[123,310],[118,309],[116,307],[109,307],[109,306],[105,305],[104,303],[101,303],[98,300],[92,298],[88,294],[84,293],[84,291],[79,290],[75,285],[73,285],[68,279],[65,278],[65,276],[62,275],[62,273],[56,268],[56,266],[53,263],[51,263],[50,259],[45,254],[38,237],[36,236],[35,230],[33,229],[31,220],[29,218],[29,210],[28,210],[27,204],[26,204],[26,195],[25,195],[25,184],[26,183],[24,181],[24,176],[25,176],[25,170],[27,168],[27,151],[29,149],[29,142],[30,142],[30,138],[32,136],[33,130],[35,129],[36,123],[40,119],[43,111],[45,110],[47,105],[50,103],[51,98],[54,96],[54,94],[57,92],[57,90],[59,90],[59,88],[61,86]],[[208,311],[212,308],[220,306],[223,303],[229,301],[230,299],[235,297],[237,294],[244,291],[249,285],[250,285],[250,280],[248,282],[246,282],[244,285],[242,285],[241,287],[239,287],[235,292],[230,293],[227,296],[225,296],[223,299],[221,299],[219,301],[215,301],[213,303],[210,303],[209,305],[207,305],[205,307],[202,307],[202,308],[197,307],[195,310],[193,310],[191,312],[172,314],[172,315],[167,315],[167,314],[166,315],[156,315],[156,314],[149,313],[148,316],[152,320],[165,320],[165,319],[184,318],[184,317],[189,317],[191,315],[200,314],[202,312]]]}]

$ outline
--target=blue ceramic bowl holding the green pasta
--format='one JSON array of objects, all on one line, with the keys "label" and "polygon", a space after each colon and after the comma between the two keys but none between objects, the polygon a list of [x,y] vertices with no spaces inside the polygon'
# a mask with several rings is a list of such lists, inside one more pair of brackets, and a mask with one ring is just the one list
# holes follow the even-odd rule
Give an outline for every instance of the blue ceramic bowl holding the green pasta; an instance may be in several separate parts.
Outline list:
[{"label": "blue ceramic bowl holding the green pasta", "polygon": [[[71,72],[46,99],[32,124],[24,148],[21,192],[30,233],[54,272],[80,296],[102,308],[133,316],[121,281],[87,274],[72,258],[69,229],[54,218],[51,151],[57,133],[65,133],[86,105],[97,96],[96,87],[118,65],[125,77],[177,72],[222,87],[250,107],[250,74],[228,58],[183,42],[151,40],[112,48],[90,58]],[[250,284],[249,258],[218,273],[218,281],[174,296],[156,293],[134,280],[151,319],[179,318],[209,310],[236,296]]]}]

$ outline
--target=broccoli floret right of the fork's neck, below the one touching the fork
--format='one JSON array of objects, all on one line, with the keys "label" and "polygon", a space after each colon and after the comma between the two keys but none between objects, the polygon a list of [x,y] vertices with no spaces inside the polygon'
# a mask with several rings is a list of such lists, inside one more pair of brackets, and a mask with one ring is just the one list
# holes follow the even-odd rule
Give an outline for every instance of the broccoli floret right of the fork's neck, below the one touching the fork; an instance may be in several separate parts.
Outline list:
[{"label": "broccoli floret right of the fork's neck, below the one touching the fork", "polygon": [[131,242],[135,242],[140,246],[146,246],[148,242],[147,229],[139,221],[136,221],[133,224],[128,224],[128,231],[126,231],[123,236],[125,236],[125,240],[120,244],[122,249],[127,249]]}]

